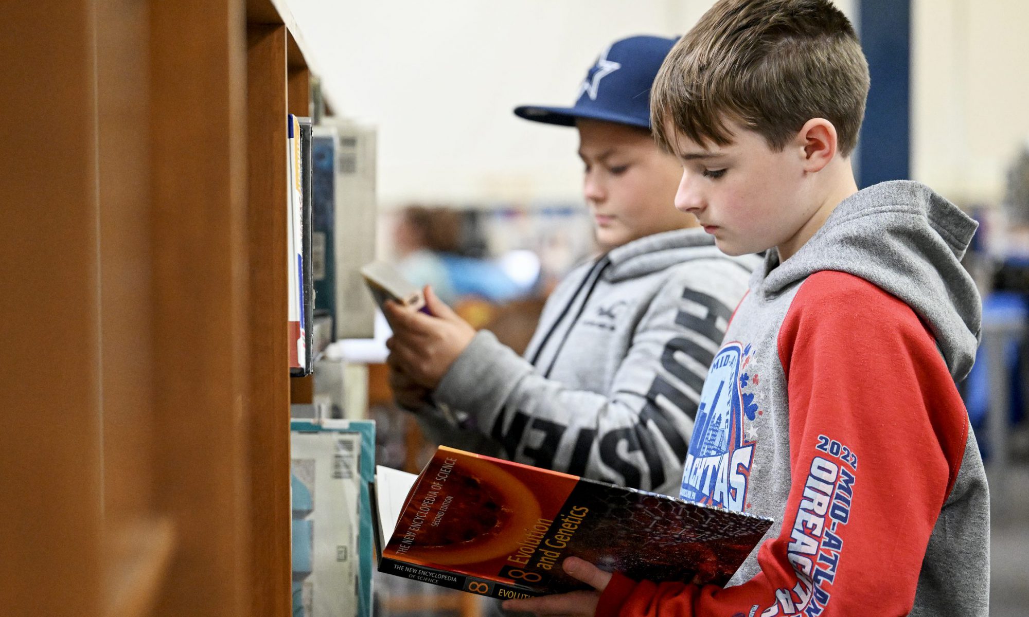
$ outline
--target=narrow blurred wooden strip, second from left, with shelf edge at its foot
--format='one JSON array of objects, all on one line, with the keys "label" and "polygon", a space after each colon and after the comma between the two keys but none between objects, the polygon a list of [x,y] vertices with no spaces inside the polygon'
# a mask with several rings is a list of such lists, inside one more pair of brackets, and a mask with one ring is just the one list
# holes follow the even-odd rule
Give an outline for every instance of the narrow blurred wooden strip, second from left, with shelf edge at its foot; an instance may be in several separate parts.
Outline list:
[{"label": "narrow blurred wooden strip, second from left, with shelf edge at its foot", "polygon": [[149,7],[99,0],[97,121],[104,614],[147,615],[174,531],[153,503]]}]

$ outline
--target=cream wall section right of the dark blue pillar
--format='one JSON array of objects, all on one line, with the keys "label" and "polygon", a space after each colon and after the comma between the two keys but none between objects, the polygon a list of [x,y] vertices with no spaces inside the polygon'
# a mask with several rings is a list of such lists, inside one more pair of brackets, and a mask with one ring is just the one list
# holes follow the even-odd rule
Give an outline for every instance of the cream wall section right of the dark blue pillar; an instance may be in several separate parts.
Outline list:
[{"label": "cream wall section right of the dark blue pillar", "polygon": [[1029,2],[914,0],[912,176],[996,204],[1029,138]]}]

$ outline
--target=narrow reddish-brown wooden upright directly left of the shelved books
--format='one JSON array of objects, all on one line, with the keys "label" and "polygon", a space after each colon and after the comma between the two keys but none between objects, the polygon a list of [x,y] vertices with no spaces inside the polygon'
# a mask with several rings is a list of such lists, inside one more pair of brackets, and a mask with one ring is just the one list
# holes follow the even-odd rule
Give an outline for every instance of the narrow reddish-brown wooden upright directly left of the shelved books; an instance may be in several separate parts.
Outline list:
[{"label": "narrow reddish-brown wooden upright directly left of the shelved books", "polygon": [[247,32],[254,615],[291,614],[286,28]]}]

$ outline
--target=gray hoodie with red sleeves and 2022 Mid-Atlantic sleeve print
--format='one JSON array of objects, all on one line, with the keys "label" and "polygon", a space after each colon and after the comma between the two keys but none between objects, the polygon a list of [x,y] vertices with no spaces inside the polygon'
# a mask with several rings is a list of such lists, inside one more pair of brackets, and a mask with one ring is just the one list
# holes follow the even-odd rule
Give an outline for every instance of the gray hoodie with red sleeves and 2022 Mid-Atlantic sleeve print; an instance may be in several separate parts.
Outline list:
[{"label": "gray hoodie with red sleeves and 2022 Mid-Atlantic sleeve print", "polygon": [[683,586],[662,612],[987,614],[989,497],[954,383],[980,332],[959,262],[974,230],[886,182],[785,262],[770,252],[704,385],[681,497],[778,522],[732,586]]}]

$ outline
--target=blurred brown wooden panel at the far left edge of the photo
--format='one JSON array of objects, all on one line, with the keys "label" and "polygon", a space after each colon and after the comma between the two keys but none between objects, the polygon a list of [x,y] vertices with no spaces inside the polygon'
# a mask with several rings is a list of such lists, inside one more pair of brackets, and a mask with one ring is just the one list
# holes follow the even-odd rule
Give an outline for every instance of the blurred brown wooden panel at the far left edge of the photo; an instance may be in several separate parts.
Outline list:
[{"label": "blurred brown wooden panel at the far left edge of the photo", "polygon": [[0,612],[101,598],[93,3],[0,3]]}]

